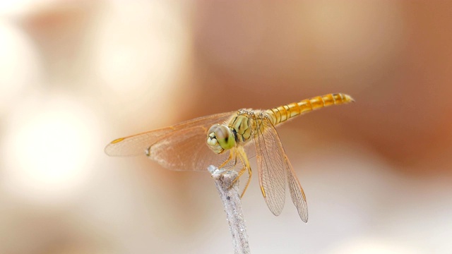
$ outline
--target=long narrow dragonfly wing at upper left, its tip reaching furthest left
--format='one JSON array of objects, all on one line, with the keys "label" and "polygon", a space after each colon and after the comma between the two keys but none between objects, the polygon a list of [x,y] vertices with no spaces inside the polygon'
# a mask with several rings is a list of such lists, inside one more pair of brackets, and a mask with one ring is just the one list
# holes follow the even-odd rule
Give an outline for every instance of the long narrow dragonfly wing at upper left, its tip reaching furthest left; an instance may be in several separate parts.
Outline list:
[{"label": "long narrow dragonfly wing at upper left, its tip reaching furthest left", "polygon": [[[226,112],[221,114],[213,114],[210,116],[203,116],[197,119],[184,121],[175,126],[160,128],[155,131],[148,131],[136,135],[131,135],[126,138],[118,138],[113,140],[105,147],[105,153],[109,156],[134,156],[144,155],[148,148],[170,133],[182,130],[184,128],[191,128],[194,126],[204,126],[210,128],[214,123],[222,123],[230,119],[234,112]],[[183,138],[183,137],[182,137]]]}]

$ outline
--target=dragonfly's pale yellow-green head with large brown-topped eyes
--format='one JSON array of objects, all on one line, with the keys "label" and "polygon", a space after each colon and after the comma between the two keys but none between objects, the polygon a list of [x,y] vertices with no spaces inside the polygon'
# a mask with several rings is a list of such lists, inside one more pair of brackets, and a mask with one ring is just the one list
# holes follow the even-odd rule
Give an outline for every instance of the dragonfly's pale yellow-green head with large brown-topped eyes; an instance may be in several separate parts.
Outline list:
[{"label": "dragonfly's pale yellow-green head with large brown-topped eyes", "polygon": [[207,132],[207,145],[213,152],[220,154],[235,145],[235,135],[225,124],[214,124]]}]

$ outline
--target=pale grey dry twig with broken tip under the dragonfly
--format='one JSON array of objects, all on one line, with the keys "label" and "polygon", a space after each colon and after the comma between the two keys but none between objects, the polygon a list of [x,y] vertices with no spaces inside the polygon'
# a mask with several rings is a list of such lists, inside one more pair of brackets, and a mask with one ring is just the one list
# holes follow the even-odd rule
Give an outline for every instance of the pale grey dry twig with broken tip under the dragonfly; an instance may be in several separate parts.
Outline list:
[{"label": "pale grey dry twig with broken tip under the dragonfly", "polygon": [[209,166],[208,171],[212,174],[220,194],[223,207],[225,207],[226,219],[229,222],[232,234],[232,244],[234,253],[249,254],[248,235],[246,234],[245,219],[242,212],[242,202],[240,201],[238,185],[239,181],[232,182],[237,177],[237,172],[230,170],[224,171],[214,166]]}]

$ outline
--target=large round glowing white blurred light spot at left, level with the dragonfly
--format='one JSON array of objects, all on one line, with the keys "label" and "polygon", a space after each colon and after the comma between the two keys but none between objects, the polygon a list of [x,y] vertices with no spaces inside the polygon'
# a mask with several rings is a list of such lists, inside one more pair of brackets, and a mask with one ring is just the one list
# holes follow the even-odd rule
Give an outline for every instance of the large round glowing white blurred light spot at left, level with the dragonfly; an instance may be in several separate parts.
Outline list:
[{"label": "large round glowing white blurred light spot at left, level with the dragonfly", "polygon": [[71,99],[25,104],[2,144],[6,191],[28,200],[59,202],[88,179],[95,118]]}]

